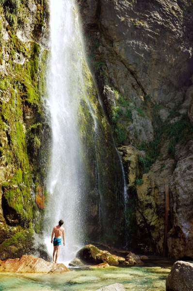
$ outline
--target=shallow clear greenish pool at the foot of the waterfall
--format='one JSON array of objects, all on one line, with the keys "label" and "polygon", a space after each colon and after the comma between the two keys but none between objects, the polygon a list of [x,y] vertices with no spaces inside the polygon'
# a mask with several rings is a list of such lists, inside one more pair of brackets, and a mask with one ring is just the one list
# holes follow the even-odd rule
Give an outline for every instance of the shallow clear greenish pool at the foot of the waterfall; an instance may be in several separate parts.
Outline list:
[{"label": "shallow clear greenish pool at the foot of the waterfall", "polygon": [[112,269],[71,269],[62,275],[0,274],[0,291],[96,291],[121,283],[126,290],[165,291],[165,279],[173,263],[143,266],[113,267]]}]

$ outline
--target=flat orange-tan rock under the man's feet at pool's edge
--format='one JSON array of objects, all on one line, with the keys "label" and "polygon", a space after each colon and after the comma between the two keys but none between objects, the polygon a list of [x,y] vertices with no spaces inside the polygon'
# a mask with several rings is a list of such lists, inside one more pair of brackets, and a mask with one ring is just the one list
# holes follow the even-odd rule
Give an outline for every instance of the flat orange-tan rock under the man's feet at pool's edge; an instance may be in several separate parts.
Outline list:
[{"label": "flat orange-tan rock under the man's feet at pool's edge", "polygon": [[50,274],[68,271],[64,264],[49,263],[33,256],[22,256],[20,259],[6,259],[0,262],[0,272]]}]

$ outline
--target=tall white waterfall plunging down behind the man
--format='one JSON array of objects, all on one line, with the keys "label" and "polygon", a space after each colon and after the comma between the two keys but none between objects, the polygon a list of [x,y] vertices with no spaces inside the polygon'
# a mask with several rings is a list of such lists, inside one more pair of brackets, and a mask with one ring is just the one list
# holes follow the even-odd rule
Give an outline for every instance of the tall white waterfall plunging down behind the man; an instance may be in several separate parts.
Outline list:
[{"label": "tall white waterfall plunging down behind the man", "polygon": [[50,58],[47,107],[52,131],[52,148],[47,190],[45,242],[48,251],[53,226],[64,220],[65,246],[59,261],[73,259],[81,246],[80,214],[81,153],[77,112],[81,86],[82,55],[78,16],[73,0],[50,0]]}]

